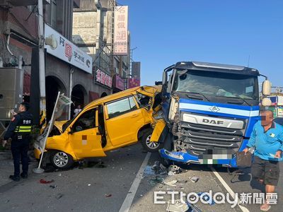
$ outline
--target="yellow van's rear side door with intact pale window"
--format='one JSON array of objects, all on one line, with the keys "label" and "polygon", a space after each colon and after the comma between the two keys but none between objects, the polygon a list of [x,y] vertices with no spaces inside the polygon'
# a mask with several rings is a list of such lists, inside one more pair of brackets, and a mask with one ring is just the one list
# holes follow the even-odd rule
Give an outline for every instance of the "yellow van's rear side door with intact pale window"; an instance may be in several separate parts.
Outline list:
[{"label": "yellow van's rear side door with intact pale window", "polygon": [[144,124],[141,110],[133,96],[108,102],[106,129],[113,146],[137,141],[137,132]]}]

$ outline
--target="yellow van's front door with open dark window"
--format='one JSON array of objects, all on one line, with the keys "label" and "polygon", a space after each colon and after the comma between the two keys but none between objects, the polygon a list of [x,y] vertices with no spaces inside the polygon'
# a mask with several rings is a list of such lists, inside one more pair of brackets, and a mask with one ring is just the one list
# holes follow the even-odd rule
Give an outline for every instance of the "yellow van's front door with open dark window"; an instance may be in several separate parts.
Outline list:
[{"label": "yellow van's front door with open dark window", "polygon": [[78,158],[105,156],[98,131],[97,107],[81,112],[71,126],[69,142]]}]

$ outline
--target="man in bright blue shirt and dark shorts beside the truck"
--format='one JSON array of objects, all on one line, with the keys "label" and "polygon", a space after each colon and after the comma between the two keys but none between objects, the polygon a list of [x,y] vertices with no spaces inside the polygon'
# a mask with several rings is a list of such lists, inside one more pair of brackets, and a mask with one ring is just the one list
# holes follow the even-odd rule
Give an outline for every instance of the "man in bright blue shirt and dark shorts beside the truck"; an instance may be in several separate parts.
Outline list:
[{"label": "man in bright blue shirt and dark shorts beside the truck", "polygon": [[248,141],[247,148],[255,148],[255,157],[251,167],[254,179],[265,184],[266,201],[260,206],[261,211],[270,210],[267,194],[275,192],[279,180],[279,159],[283,151],[283,126],[273,122],[273,112],[263,110],[261,121],[253,127],[253,132]]}]

